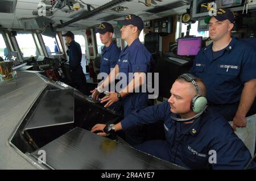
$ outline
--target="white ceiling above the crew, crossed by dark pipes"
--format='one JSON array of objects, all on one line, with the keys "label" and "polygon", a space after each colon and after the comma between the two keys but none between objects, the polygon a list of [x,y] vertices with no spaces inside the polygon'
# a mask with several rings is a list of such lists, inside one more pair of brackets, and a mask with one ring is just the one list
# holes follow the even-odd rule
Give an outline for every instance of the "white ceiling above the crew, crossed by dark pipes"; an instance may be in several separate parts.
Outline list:
[{"label": "white ceiling above the crew, crossed by dark pipes", "polygon": [[[41,1],[42,0],[17,0],[16,11],[14,14],[0,13],[0,24],[2,25],[2,27],[9,28],[9,29],[23,28],[22,24],[18,22],[18,19],[35,17],[34,15],[32,15],[32,11],[37,10],[38,4]],[[97,8],[99,6],[104,5],[105,3],[110,2],[109,0],[81,0],[81,1],[86,4],[92,5],[94,8]],[[141,0],[141,1],[144,1],[144,0]],[[183,6],[173,10],[164,11],[158,14],[151,14],[149,12],[145,12],[146,10],[152,9],[155,6],[164,6],[171,2],[177,2],[177,0],[163,0],[163,2],[159,2],[159,1],[155,1],[155,2],[157,3],[157,5],[151,5],[151,7],[144,6],[142,3],[139,3],[138,0],[125,2],[119,6],[128,7],[128,10],[126,11],[114,12],[114,11],[107,10],[105,12],[102,12],[101,14],[97,14],[88,19],[84,19],[81,22],[73,23],[72,26],[78,26],[77,28],[64,27],[60,30],[75,30],[75,29],[81,30],[86,27],[91,27],[101,23],[100,21],[98,21],[98,19],[104,18],[105,16],[108,16],[111,14],[119,14],[119,15],[122,15],[123,17],[125,17],[127,14],[137,14],[137,15],[142,15],[141,17],[143,20],[149,20],[149,19],[160,18],[167,15],[182,14],[185,12],[185,10],[188,7],[188,6]],[[84,6],[85,6],[85,10],[87,10],[86,5]],[[91,8],[91,10],[93,9]],[[77,14],[79,11],[66,13],[59,9],[55,9],[55,11],[53,12],[53,15],[47,16],[47,18],[54,20],[55,25],[57,25],[57,24],[60,24],[60,20],[63,20],[63,22],[67,22],[68,20],[71,20],[71,18],[69,17]],[[123,18],[119,18],[119,19],[123,19]],[[109,23],[116,24],[116,20],[119,20],[119,19],[111,20],[109,21]]]}]

